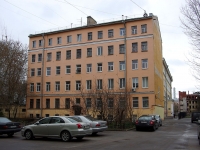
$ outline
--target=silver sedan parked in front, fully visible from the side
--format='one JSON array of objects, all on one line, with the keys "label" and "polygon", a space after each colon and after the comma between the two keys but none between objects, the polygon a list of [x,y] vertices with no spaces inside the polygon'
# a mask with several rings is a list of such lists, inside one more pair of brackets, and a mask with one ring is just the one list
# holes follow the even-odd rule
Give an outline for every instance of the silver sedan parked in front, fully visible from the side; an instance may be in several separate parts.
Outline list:
[{"label": "silver sedan parked in front, fully visible from the side", "polygon": [[32,125],[24,126],[21,135],[30,140],[34,137],[59,137],[70,141],[73,137],[81,140],[92,134],[89,123],[78,122],[67,116],[52,116],[43,118]]}]

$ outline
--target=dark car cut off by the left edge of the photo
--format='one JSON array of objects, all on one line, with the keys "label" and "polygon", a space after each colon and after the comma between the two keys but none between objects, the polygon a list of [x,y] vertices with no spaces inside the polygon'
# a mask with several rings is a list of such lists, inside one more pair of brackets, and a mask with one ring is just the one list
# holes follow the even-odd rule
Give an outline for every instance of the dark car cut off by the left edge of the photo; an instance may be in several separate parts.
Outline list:
[{"label": "dark car cut off by the left edge of the photo", "polygon": [[12,122],[8,118],[0,117],[0,135],[7,134],[9,137],[21,131],[19,122]]}]

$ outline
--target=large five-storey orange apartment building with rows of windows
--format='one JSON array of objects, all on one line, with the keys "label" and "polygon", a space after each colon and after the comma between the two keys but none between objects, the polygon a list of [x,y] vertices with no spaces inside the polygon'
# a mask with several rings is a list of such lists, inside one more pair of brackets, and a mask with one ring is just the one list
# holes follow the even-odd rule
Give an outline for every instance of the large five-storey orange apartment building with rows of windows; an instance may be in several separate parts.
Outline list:
[{"label": "large five-storey orange apartment building with rows of windows", "polygon": [[108,107],[104,115],[115,118],[110,110],[119,99],[119,108],[129,101],[126,107],[135,117],[163,118],[162,58],[159,22],[153,14],[106,23],[89,16],[86,26],[30,34],[26,115],[96,112],[101,117],[94,108]]}]

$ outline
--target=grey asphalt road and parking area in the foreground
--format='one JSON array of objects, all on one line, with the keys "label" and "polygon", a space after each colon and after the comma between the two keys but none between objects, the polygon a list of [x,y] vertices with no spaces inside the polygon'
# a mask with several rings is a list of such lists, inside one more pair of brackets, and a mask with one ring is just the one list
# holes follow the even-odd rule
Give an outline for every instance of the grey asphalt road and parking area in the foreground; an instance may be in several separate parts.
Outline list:
[{"label": "grey asphalt road and parking area in the foreground", "polygon": [[0,136],[0,150],[200,150],[197,125],[189,118],[165,119],[152,131],[105,131],[82,141],[36,138],[26,140],[17,133],[12,138]]}]

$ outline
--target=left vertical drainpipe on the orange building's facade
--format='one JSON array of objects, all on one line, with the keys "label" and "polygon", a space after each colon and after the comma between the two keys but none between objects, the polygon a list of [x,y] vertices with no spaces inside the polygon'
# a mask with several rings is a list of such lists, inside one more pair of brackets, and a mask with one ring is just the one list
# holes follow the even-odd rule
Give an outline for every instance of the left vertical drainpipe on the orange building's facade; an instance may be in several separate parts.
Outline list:
[{"label": "left vertical drainpipe on the orange building's facade", "polygon": [[45,39],[44,39],[44,33],[42,34],[42,38],[43,38],[43,49],[42,49],[42,76],[41,76],[41,108],[40,108],[40,117],[42,117],[43,115],[43,81],[44,81],[44,49],[45,49]]}]

